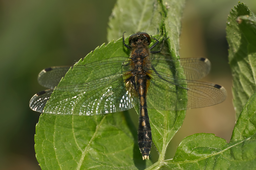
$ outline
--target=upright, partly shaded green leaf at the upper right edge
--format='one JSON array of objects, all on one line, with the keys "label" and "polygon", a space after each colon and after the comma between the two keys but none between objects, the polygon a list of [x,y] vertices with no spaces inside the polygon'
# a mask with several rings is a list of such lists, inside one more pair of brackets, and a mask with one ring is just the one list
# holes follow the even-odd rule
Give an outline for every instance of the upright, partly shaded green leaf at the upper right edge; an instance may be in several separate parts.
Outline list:
[{"label": "upright, partly shaded green leaf at the upper right edge", "polygon": [[227,22],[229,63],[233,76],[233,104],[238,117],[242,107],[256,91],[256,18],[239,2]]}]

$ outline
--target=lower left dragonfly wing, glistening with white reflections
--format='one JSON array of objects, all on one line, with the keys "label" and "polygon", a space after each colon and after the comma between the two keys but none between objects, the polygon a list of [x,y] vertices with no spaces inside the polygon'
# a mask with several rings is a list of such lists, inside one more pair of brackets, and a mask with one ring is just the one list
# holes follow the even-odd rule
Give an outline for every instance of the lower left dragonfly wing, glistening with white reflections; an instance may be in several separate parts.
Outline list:
[{"label": "lower left dragonfly wing, glistening with white reflections", "polygon": [[45,93],[36,94],[31,99],[30,107],[42,113],[70,115],[98,115],[128,110],[133,108],[134,97],[126,90],[122,79],[117,75],[104,81],[99,79],[45,90]]}]

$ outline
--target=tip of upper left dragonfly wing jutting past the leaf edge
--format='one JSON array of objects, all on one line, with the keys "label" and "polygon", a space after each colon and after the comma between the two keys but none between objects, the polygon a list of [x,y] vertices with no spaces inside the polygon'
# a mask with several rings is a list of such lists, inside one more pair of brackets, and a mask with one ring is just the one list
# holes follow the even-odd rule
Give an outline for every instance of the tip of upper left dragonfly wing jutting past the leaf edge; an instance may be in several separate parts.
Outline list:
[{"label": "tip of upper left dragonfly wing jutting past the leaf edge", "polygon": [[65,76],[70,67],[58,66],[46,68],[38,74],[38,83],[46,88],[54,88],[58,86],[61,78]]}]

